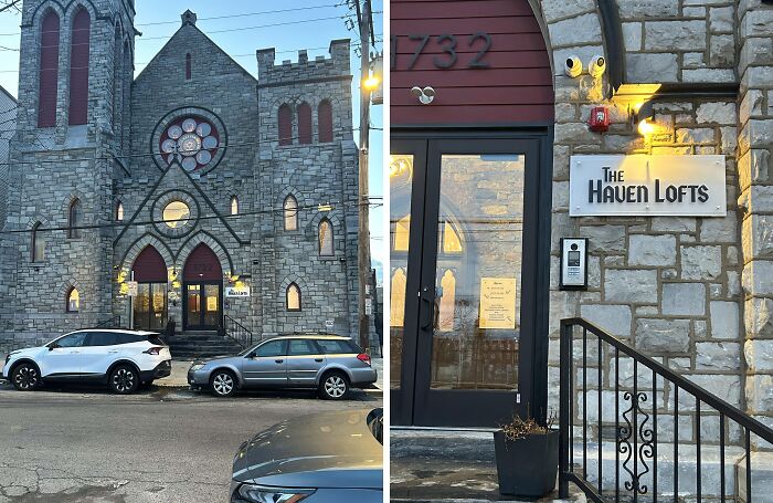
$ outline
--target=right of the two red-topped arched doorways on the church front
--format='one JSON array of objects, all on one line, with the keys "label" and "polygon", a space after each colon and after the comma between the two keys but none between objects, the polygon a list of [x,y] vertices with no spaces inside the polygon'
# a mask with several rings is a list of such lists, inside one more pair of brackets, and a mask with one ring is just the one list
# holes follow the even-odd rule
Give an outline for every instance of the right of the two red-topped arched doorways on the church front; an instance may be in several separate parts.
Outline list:
[{"label": "right of the two red-topped arched doorways on the church front", "polygon": [[223,325],[223,270],[212,249],[199,244],[182,271],[182,325],[187,331],[216,331]]}]

